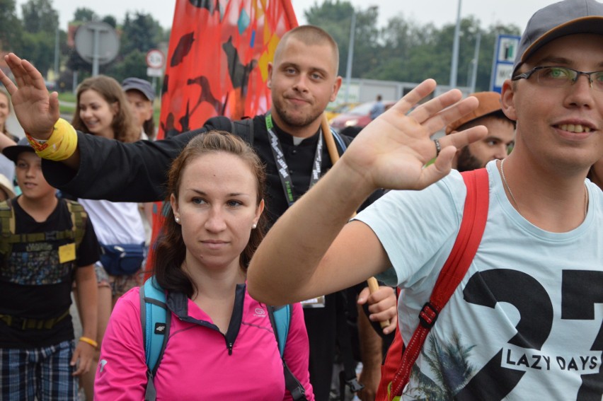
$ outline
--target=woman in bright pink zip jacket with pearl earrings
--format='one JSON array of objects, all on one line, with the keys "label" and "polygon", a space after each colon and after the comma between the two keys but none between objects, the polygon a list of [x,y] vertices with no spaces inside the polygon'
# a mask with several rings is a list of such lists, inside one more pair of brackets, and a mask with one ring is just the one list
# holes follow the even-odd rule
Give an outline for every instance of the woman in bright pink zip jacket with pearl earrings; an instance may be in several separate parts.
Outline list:
[{"label": "woman in bright pink zip jacket with pearl earrings", "polygon": [[[263,238],[264,171],[236,136],[196,136],[173,162],[171,210],[156,248],[171,328],[154,377],[156,400],[287,400],[268,309],[246,291],[246,268]],[[283,260],[285,263],[286,260]],[[292,306],[284,359],[314,400],[304,315]],[[95,400],[142,400],[147,365],[139,289],[111,315]]]}]

